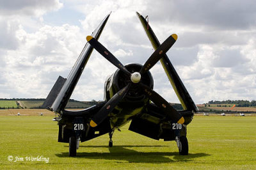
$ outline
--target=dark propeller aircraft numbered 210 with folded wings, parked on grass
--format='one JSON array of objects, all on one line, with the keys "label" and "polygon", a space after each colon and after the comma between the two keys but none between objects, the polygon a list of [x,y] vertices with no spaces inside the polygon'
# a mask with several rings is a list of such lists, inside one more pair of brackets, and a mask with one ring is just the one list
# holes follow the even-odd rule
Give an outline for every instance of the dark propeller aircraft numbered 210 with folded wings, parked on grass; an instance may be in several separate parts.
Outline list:
[{"label": "dark propeller aircraft numbered 210 with folded wings, parked on grass", "polygon": [[[147,20],[137,12],[155,51],[144,65],[132,63],[124,66],[98,42],[109,15],[93,31],[92,36],[86,37],[88,43],[84,46],[67,79],[60,76],[45,100],[43,107],[56,112],[57,115],[54,120],[58,121],[59,126],[58,142],[69,143],[71,157],[76,156],[79,141],[88,141],[107,133],[109,147],[112,147],[114,131],[131,121],[129,130],[132,132],[156,140],[176,141],[179,154],[188,155],[187,125],[192,121],[198,108],[166,56],[166,52],[176,42],[177,35],[173,34],[160,43]],[[118,70],[106,79],[104,102],[82,111],[68,111],[65,106],[93,48]],[[175,110],[153,90],[154,80],[149,70],[158,61],[161,61],[184,111]]]}]

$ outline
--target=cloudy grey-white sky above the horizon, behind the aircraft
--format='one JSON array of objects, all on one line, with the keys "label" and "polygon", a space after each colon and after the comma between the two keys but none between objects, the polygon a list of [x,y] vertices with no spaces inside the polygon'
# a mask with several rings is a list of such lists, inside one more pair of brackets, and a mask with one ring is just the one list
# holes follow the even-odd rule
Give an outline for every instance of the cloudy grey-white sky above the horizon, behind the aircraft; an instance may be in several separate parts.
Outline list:
[{"label": "cloudy grey-white sky above the horizon, behind the aircraft", "polygon": [[[99,41],[124,65],[143,64],[154,52],[136,12],[148,15],[196,104],[256,100],[256,1],[0,0],[0,98],[46,98],[67,77],[86,36],[109,13]],[[104,81],[116,70],[93,50],[71,98],[103,100]],[[160,63],[154,90],[179,103]]]}]

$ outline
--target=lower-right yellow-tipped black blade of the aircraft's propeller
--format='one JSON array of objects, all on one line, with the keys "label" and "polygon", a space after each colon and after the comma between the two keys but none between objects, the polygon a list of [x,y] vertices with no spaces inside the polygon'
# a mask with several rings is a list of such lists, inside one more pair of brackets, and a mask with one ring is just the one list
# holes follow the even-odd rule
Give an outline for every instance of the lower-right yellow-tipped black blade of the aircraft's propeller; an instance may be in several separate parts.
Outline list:
[{"label": "lower-right yellow-tipped black blade of the aircraft's propeller", "polygon": [[158,107],[162,109],[162,111],[173,121],[183,124],[184,118],[181,116],[179,112],[177,112],[163,97],[161,97],[156,91],[150,89],[148,86],[144,84],[140,84],[143,88],[143,92],[147,97],[154,102]]}]

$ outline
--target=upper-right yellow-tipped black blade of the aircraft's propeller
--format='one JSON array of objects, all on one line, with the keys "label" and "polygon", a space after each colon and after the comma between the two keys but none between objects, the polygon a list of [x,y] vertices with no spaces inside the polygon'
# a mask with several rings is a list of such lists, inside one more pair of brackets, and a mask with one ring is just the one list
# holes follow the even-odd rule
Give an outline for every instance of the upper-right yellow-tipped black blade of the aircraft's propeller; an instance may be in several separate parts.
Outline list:
[{"label": "upper-right yellow-tipped black blade of the aircraft's propeller", "polygon": [[140,73],[143,74],[150,70],[152,66],[156,65],[159,59],[163,58],[164,54],[172,47],[172,45],[176,42],[178,36],[173,34],[169,36],[148,58],[146,63],[142,66]]}]

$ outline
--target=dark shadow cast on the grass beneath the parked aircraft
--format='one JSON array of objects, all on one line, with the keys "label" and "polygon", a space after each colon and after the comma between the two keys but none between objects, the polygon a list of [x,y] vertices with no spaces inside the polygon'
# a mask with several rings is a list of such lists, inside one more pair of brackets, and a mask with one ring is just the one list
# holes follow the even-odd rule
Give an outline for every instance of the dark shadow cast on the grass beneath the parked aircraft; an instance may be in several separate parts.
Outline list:
[{"label": "dark shadow cast on the grass beneath the parked aircraft", "polygon": [[[107,148],[108,146],[83,146],[84,148]],[[163,163],[163,162],[189,162],[193,158],[209,156],[206,153],[190,153],[189,155],[179,155],[179,152],[140,152],[127,148],[132,147],[166,147],[166,146],[113,146],[109,148],[109,153],[98,152],[77,152],[76,158],[104,159],[104,160],[125,160],[128,162],[143,163]],[[168,146],[167,146],[168,147]],[[68,152],[56,154],[57,157],[68,157]]]}]

